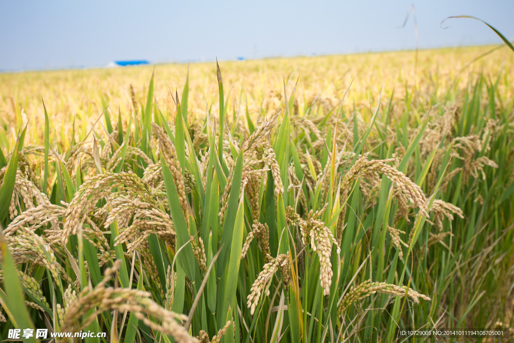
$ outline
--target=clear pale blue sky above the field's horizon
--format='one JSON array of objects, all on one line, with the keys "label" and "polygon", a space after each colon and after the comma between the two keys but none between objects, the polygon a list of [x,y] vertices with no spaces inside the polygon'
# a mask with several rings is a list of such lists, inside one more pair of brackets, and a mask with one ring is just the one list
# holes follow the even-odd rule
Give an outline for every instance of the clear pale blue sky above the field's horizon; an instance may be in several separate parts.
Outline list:
[{"label": "clear pale blue sky above the field's horizon", "polygon": [[[320,55],[416,46],[411,1],[0,0],[0,70]],[[474,15],[514,39],[514,1],[414,2],[419,47],[501,43]]]}]

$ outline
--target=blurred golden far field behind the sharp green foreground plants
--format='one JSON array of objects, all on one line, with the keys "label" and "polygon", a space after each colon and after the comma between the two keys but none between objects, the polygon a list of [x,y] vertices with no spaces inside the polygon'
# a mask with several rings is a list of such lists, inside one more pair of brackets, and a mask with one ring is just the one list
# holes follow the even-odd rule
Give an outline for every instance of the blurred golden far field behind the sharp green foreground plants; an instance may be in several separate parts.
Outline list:
[{"label": "blurred golden far field behind the sharp green foreground plants", "polygon": [[[304,106],[314,99],[325,104],[327,109],[332,108],[353,80],[343,108],[350,109],[355,103],[357,110],[363,109],[359,111],[359,116],[365,121],[370,116],[370,111],[365,109],[376,105],[381,87],[382,95],[386,98],[391,96],[394,89],[393,113],[401,114],[405,105],[406,87],[417,90],[412,99],[412,109],[416,111],[418,105],[421,108],[430,106],[441,97],[445,101],[455,102],[455,94],[463,94],[458,90],[470,86],[469,81],[480,73],[486,78],[495,79],[502,71],[501,77],[505,80],[499,84],[499,99],[505,101],[512,98],[514,55],[508,48],[495,50],[467,66],[473,59],[493,48],[479,46],[420,50],[417,68],[415,51],[220,61],[219,64],[229,114],[240,106],[242,95],[241,110],[245,109],[247,103],[253,120],[260,122],[258,117],[261,106],[264,107],[264,113],[266,109],[272,111],[279,106],[277,101],[283,95],[283,82],[287,82],[290,92],[299,77],[296,99],[300,115]],[[61,147],[66,147],[71,139],[74,119],[76,138],[81,139],[102,112],[99,91],[106,95],[112,114],[117,114],[118,108],[122,114],[127,113],[131,84],[139,103],[144,103],[148,89],[143,89],[143,86],[148,87],[153,68],[139,66],[0,74],[1,130],[8,137],[9,146],[12,146],[17,129],[28,120],[29,141],[43,145],[43,98],[50,116],[51,131],[60,133],[56,141]],[[175,92],[177,88],[181,96],[187,68],[187,64],[155,65],[154,95],[166,114],[175,111],[169,89]],[[215,62],[189,65],[188,110],[193,118],[197,115],[205,118],[206,103],[211,113],[218,116],[215,70]],[[387,106],[387,102],[383,101],[382,106]],[[122,118],[125,122],[128,117],[122,115]],[[227,120],[230,119],[231,115]]]}]

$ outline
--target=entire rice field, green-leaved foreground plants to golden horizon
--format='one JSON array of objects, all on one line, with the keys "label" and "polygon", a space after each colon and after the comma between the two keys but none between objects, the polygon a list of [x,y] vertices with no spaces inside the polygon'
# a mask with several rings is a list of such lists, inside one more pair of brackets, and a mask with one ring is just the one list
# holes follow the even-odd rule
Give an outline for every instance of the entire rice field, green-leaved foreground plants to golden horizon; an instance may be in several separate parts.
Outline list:
[{"label": "entire rice field, green-leaved foreground plants to golden horizon", "polygon": [[514,334],[494,48],[0,74],[2,339]]}]

